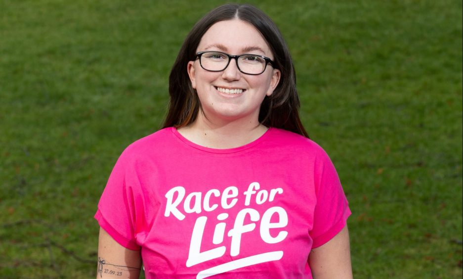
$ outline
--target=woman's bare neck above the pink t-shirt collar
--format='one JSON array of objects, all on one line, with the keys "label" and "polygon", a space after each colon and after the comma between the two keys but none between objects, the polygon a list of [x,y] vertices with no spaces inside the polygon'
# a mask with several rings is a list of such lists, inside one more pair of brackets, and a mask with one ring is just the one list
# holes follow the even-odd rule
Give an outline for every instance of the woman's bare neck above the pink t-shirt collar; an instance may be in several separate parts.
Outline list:
[{"label": "woman's bare neck above the pink t-shirt collar", "polygon": [[186,139],[210,148],[227,149],[246,145],[266,131],[258,120],[211,121],[202,113],[192,124],[178,129]]}]

